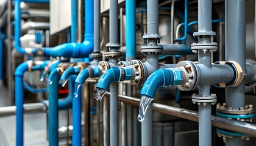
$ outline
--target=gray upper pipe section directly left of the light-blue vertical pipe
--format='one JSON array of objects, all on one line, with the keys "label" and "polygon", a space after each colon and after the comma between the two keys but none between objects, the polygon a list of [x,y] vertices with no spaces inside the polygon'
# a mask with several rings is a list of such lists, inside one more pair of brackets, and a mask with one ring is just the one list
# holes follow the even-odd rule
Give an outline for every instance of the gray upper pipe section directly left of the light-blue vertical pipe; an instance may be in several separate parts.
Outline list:
[{"label": "gray upper pipe section directly left of the light-blue vertical pipe", "polygon": [[118,0],[110,0],[110,44],[118,44]]}]

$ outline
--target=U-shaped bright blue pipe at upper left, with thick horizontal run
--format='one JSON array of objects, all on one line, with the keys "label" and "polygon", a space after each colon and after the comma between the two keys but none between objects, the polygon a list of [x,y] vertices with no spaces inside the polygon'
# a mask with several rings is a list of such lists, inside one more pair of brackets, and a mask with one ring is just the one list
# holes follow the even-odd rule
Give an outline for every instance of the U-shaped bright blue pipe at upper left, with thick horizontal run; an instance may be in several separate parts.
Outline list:
[{"label": "U-shaped bright blue pipe at upper left, with thick horizontal run", "polygon": [[[20,46],[20,2],[15,0],[15,48],[21,54],[35,55],[37,49],[25,50]],[[65,43],[53,48],[43,48],[46,57],[84,58],[93,52],[93,1],[85,1],[85,35],[82,43]],[[31,51],[31,52],[30,52]]]}]

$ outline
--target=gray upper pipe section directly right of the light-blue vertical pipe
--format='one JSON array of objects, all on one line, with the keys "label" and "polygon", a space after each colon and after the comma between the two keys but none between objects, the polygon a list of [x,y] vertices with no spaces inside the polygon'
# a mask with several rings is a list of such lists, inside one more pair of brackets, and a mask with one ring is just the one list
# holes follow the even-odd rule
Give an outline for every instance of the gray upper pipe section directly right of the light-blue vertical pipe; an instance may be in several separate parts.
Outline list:
[{"label": "gray upper pipe section directly right of the light-blue vertical pipe", "polygon": [[148,35],[158,34],[158,0],[147,0]]}]

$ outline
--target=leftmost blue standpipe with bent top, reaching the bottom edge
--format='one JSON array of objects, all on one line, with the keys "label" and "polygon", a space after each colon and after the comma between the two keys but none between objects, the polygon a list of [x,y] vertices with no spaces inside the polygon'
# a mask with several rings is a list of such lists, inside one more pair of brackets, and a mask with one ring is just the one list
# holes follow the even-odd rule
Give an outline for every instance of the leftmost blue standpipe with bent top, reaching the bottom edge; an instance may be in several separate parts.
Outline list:
[{"label": "leftmost blue standpipe with bent top, reaching the bottom edge", "polygon": [[28,71],[29,66],[27,62],[21,63],[15,69],[15,105],[16,105],[16,145],[23,145],[24,142],[24,117],[23,117],[23,75]]}]

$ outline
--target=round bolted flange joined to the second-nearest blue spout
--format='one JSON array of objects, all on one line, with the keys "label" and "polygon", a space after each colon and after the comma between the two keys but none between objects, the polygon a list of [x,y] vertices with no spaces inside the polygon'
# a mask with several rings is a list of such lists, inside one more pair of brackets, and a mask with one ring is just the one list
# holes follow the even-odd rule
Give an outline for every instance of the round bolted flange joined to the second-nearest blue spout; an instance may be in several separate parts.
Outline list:
[{"label": "round bolted flange joined to the second-nearest blue spout", "polygon": [[133,65],[134,68],[136,69],[136,72],[135,72],[136,76],[134,79],[130,80],[130,83],[133,86],[141,85],[144,79],[144,74],[145,74],[143,63],[140,60],[132,60],[130,61],[130,65]]}]

